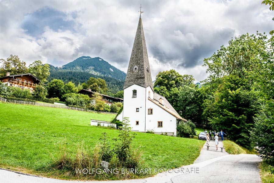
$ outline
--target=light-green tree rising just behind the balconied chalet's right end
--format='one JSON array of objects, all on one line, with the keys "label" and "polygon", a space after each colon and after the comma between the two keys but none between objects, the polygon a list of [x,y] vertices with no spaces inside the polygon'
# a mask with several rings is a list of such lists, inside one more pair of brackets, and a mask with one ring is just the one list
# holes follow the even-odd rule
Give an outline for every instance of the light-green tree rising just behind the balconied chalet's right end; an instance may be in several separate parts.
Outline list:
[{"label": "light-green tree rising just behind the balconied chalet's right end", "polygon": [[50,72],[49,65],[42,64],[41,60],[34,61],[29,66],[29,72],[36,76],[42,83],[47,82],[47,77],[49,77]]}]

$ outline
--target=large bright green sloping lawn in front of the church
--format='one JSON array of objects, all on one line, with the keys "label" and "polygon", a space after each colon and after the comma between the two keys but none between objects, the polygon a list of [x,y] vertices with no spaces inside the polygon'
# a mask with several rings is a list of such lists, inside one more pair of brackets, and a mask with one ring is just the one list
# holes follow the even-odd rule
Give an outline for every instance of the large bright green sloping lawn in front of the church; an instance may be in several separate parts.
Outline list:
[{"label": "large bright green sloping lawn in front of the church", "polygon": [[[43,174],[66,142],[74,153],[77,144],[93,148],[102,132],[111,138],[118,130],[90,126],[90,119],[111,121],[115,115],[0,103],[0,167]],[[199,156],[204,141],[164,135],[137,133],[135,147],[142,151],[147,168],[175,168],[191,164]],[[39,171],[38,171],[39,170]]]}]

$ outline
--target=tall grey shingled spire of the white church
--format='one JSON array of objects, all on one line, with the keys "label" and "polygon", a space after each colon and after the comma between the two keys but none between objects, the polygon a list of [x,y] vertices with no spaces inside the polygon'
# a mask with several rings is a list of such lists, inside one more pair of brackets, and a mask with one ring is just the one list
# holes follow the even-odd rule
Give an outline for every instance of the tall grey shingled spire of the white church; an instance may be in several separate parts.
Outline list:
[{"label": "tall grey shingled spire of the white church", "polygon": [[128,64],[124,89],[132,84],[145,88],[151,86],[153,89],[141,15]]}]

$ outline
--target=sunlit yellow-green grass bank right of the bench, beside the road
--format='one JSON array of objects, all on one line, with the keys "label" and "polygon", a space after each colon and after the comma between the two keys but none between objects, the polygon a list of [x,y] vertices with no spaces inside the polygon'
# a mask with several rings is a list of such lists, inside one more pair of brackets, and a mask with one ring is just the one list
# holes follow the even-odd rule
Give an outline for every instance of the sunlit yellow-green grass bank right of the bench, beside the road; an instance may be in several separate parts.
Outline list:
[{"label": "sunlit yellow-green grass bank right of the bench, beside the road", "polygon": [[224,140],[223,146],[226,148],[226,152],[229,154],[257,154],[255,149],[248,150],[230,140]]}]

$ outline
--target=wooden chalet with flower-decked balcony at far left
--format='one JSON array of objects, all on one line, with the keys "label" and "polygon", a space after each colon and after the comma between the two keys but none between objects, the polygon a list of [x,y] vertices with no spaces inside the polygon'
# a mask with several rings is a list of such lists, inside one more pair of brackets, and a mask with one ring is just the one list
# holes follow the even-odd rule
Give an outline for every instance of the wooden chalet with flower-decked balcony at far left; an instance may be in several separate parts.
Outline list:
[{"label": "wooden chalet with flower-decked balcony at far left", "polygon": [[30,73],[10,75],[9,72],[6,76],[0,77],[0,81],[7,86],[29,89],[30,91],[33,91],[36,84],[41,82],[37,77]]}]

